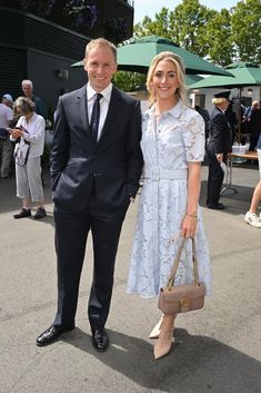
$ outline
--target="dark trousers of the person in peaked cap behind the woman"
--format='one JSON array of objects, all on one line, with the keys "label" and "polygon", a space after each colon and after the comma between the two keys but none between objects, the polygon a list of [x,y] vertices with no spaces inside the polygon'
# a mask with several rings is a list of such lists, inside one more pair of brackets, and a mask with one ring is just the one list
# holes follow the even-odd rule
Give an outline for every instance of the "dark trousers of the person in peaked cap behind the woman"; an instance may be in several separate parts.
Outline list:
[{"label": "dark trousers of the person in peaked cap behind the woman", "polygon": [[207,190],[207,205],[218,205],[223,184],[224,173],[213,151],[207,150],[209,159],[209,177]]}]

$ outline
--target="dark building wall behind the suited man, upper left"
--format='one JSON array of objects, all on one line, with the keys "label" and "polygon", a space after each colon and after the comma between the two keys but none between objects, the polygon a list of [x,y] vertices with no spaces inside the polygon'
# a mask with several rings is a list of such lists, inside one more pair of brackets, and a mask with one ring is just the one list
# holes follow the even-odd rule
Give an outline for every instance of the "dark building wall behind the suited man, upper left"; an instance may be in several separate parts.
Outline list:
[{"label": "dark building wall behind the suited man, upper left", "polygon": [[31,79],[34,94],[44,100],[52,116],[59,95],[86,81],[82,70],[70,66],[83,58],[89,40],[31,14],[0,7],[0,96],[21,96],[22,79]]}]

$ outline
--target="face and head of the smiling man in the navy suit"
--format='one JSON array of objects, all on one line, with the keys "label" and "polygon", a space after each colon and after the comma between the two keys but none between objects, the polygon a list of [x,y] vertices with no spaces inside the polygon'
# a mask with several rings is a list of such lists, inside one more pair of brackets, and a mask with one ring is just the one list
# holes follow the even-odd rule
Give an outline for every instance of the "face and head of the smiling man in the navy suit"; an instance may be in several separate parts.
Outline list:
[{"label": "face and head of the smiling man in the navy suit", "polygon": [[91,49],[84,59],[84,70],[88,72],[89,83],[97,92],[106,89],[117,70],[117,62],[110,48],[98,46]]}]

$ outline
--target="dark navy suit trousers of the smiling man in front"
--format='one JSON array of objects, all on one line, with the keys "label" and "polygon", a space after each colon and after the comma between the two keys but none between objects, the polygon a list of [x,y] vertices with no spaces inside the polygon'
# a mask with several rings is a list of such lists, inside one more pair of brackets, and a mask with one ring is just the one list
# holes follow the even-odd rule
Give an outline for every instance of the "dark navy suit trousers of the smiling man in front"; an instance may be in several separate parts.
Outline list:
[{"label": "dark navy suit trousers of the smiling man in front", "polygon": [[58,311],[53,325],[74,325],[80,276],[91,230],[93,281],[88,315],[92,328],[104,327],[111,303],[118,243],[128,206],[128,197],[117,208],[104,206],[93,190],[84,212],[61,212],[54,207]]}]

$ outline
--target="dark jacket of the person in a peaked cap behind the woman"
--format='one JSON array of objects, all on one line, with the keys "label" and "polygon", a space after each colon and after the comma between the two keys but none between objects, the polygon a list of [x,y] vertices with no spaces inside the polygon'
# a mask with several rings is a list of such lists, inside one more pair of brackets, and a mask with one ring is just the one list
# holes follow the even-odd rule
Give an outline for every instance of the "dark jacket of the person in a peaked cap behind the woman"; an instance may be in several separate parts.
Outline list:
[{"label": "dark jacket of the person in a peaked cap behind the woman", "polygon": [[231,153],[232,131],[225,115],[214,107],[210,117],[209,144],[207,150],[213,154]]}]

